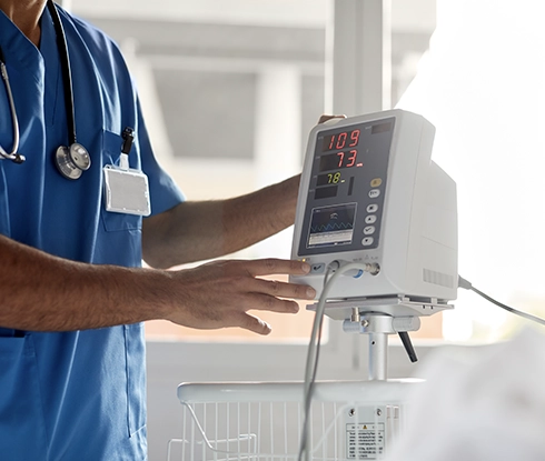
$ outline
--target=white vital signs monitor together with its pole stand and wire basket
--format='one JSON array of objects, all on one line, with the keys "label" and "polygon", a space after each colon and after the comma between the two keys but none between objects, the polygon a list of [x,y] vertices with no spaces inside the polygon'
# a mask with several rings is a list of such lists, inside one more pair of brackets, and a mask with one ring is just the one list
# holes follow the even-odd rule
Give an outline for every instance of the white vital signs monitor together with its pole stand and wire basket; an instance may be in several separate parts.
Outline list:
[{"label": "white vital signs monitor together with its pole stand and wire basket", "polygon": [[[207,460],[218,453],[226,459],[278,458],[275,450],[298,461],[380,460],[389,453],[404,429],[407,392],[420,380],[387,379],[388,337],[398,334],[415,361],[408,333],[418,330],[423,315],[452,309],[458,285],[456,186],[432,161],[434,136],[425,118],[403,110],[337,118],[311,130],[291,247],[291,258],[307,261],[311,270],[290,277],[317,291],[303,388],[217,384],[212,399],[226,404],[215,407],[216,420],[209,418],[211,407],[200,407],[204,423],[191,425],[181,443],[190,461],[194,452],[205,460],[207,450]],[[324,314],[343,321],[348,333],[369,337],[368,381],[315,382]],[[200,395],[191,385],[178,390],[192,418],[198,413],[191,405],[208,404],[214,387],[201,390]],[[255,407],[242,407],[240,399]],[[246,409],[237,412],[247,418],[238,424],[229,413],[235,401]],[[293,401],[297,408],[286,417]],[[278,411],[272,411],[276,403]],[[222,412],[234,434],[218,432]],[[284,423],[276,415],[284,415]],[[201,429],[208,422],[209,432],[218,435],[212,443]],[[259,428],[267,424],[270,430],[261,437]],[[295,444],[287,439],[294,434]],[[202,440],[188,443],[195,437]]]}]

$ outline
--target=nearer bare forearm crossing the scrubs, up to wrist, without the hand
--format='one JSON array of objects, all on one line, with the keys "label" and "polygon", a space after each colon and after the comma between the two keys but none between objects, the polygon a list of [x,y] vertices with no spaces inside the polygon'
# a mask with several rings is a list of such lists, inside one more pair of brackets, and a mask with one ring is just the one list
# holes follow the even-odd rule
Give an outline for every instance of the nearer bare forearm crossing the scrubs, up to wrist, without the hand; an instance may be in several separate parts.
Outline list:
[{"label": "nearer bare forearm crossing the scrubs, up to wrist, without the hand", "polygon": [[6,237],[0,254],[0,327],[70,331],[164,315],[160,271],[73,262]]}]

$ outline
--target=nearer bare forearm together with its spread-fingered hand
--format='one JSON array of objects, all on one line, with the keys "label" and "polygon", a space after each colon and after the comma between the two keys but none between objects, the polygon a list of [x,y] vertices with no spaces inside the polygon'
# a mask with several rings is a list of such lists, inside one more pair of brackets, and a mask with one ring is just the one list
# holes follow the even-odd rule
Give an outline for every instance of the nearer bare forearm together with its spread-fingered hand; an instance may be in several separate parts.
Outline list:
[{"label": "nearer bare forearm together with its spread-fingered hand", "polygon": [[71,331],[165,319],[200,329],[267,334],[248,310],[297,312],[309,287],[262,280],[308,273],[298,261],[217,261],[184,271],[93,265],[56,258],[0,235],[0,327]]}]

